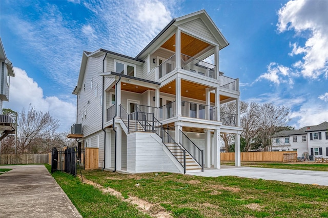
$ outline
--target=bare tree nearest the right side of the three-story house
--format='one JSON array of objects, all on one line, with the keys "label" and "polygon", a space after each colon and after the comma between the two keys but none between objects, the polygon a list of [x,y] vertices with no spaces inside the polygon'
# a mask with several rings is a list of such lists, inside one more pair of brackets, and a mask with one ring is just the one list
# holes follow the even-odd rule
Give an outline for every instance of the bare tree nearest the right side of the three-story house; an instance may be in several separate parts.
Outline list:
[{"label": "bare tree nearest the right side of the three-story house", "polygon": [[245,151],[249,151],[258,129],[260,128],[260,104],[251,102],[247,111],[240,118],[243,128],[242,137],[245,139]]}]

